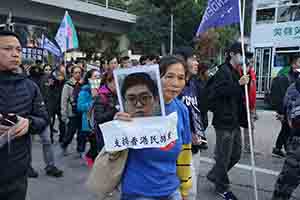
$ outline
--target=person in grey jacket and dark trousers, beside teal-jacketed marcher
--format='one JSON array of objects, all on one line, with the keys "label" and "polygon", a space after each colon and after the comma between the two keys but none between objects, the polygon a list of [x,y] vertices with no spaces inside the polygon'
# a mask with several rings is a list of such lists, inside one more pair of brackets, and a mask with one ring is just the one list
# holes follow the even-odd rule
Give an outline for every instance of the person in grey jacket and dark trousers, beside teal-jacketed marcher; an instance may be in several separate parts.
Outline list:
[{"label": "person in grey jacket and dark trousers, beside teal-jacketed marcher", "polygon": [[[73,137],[76,133],[79,133],[81,129],[81,115],[77,111],[77,99],[81,89],[81,77],[83,71],[80,67],[74,66],[71,69],[71,75],[69,81],[64,85],[61,97],[61,116],[63,122],[66,124],[66,135],[62,139],[61,148],[62,153],[67,155],[67,148],[72,142]],[[77,137],[80,139],[80,137]],[[81,152],[77,141],[77,152],[81,156]]]}]

